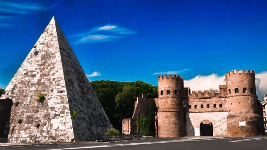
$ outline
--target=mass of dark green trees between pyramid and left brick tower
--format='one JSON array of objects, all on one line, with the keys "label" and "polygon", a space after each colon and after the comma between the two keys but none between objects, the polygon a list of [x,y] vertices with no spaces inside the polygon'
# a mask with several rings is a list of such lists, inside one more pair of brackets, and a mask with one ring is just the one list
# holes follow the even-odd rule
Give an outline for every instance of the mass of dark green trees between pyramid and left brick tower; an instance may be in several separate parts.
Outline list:
[{"label": "mass of dark green trees between pyramid and left brick tower", "polygon": [[[121,131],[123,118],[131,118],[137,96],[158,97],[158,87],[143,81],[92,81],[91,85],[101,102],[111,124]],[[126,96],[129,99],[123,98]]]}]

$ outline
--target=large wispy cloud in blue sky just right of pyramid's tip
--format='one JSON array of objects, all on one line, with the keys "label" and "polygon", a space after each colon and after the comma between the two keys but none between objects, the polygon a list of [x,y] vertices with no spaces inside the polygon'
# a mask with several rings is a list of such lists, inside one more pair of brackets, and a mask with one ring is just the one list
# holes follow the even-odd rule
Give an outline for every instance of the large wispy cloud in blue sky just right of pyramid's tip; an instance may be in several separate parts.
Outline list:
[{"label": "large wispy cloud in blue sky just right of pyramid's tip", "polygon": [[92,28],[87,32],[82,32],[68,37],[76,37],[76,42],[73,44],[87,44],[95,42],[113,41],[123,37],[123,35],[131,35],[136,32],[127,28],[122,28],[115,25],[106,25]]}]

